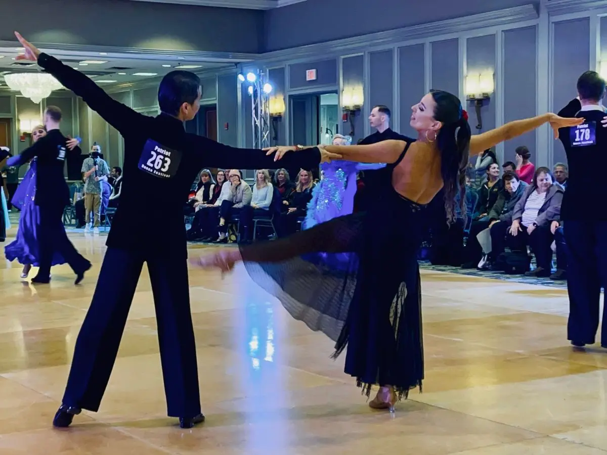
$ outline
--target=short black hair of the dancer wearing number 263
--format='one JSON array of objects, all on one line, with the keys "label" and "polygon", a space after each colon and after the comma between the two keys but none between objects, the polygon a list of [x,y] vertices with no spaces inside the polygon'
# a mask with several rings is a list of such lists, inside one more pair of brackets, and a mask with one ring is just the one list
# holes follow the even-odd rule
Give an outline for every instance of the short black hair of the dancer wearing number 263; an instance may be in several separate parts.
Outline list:
[{"label": "short black hair of the dancer wearing number 263", "polygon": [[158,106],[161,112],[177,115],[181,104],[194,104],[198,98],[200,78],[192,72],[175,70],[162,78],[158,87]]}]

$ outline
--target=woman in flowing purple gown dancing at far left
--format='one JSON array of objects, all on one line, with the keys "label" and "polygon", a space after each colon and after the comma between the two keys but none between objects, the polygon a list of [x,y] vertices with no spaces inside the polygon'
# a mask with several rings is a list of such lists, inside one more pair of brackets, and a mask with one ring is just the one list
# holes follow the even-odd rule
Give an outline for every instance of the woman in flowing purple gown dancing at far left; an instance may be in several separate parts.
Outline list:
[{"label": "woman in flowing purple gown dancing at far left", "polygon": [[[46,136],[44,126],[38,125],[32,130],[32,140],[36,142],[39,138]],[[68,142],[68,147],[73,149],[79,141],[72,139]],[[21,211],[19,217],[19,227],[14,241],[4,247],[4,255],[9,261],[17,260],[23,264],[21,278],[27,278],[32,266],[38,267],[38,227],[40,224],[40,210],[33,203],[36,194],[36,158],[30,162],[30,169],[27,170],[23,180],[15,190],[15,195],[11,202]],[[65,263],[61,255],[53,255],[52,265]]]}]

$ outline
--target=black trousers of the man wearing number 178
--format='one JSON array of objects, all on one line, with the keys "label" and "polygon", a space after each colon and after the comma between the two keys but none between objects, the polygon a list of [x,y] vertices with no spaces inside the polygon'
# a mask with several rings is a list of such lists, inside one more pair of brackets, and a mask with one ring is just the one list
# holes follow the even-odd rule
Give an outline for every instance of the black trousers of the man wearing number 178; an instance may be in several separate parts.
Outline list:
[{"label": "black trousers of the man wearing number 178", "polygon": [[[567,220],[568,339],[594,344],[599,328],[601,287],[607,286],[607,221]],[[603,306],[601,345],[607,346],[607,305]]]}]

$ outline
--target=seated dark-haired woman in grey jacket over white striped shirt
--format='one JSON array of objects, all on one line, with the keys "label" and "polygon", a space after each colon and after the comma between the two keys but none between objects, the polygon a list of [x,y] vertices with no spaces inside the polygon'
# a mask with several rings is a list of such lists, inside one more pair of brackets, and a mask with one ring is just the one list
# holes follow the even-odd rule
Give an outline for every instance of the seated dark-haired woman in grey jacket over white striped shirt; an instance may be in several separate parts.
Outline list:
[{"label": "seated dark-haired woman in grey jacket over white striped shirt", "polygon": [[563,188],[553,183],[550,169],[539,167],[514,207],[512,223],[495,223],[491,227],[492,257],[498,260],[506,246],[510,251],[523,252],[527,256],[529,245],[534,252],[537,268],[528,274],[549,277],[554,238],[551,225],[552,221],[560,218],[562,200]]}]

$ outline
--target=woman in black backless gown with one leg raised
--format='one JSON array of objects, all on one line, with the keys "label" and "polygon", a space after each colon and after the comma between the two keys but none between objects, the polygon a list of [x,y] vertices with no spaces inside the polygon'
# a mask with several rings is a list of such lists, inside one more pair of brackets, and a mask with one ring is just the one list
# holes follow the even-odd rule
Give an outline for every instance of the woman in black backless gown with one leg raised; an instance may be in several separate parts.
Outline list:
[{"label": "woman in black backless gown with one leg raised", "polygon": [[[379,385],[370,406],[390,411],[410,389],[421,388],[424,377],[417,263],[424,206],[444,187],[447,217],[453,221],[469,150],[483,152],[544,123],[556,130],[582,121],[546,114],[471,138],[467,114],[450,93],[430,92],[412,109],[417,140],[324,146],[344,160],[388,163],[378,171],[384,173],[384,186],[368,212],[193,260],[222,271],[242,260],[253,280],[276,295],[293,317],[336,342],[334,357],[348,346],[345,372],[356,377],[367,396],[371,385]],[[273,147],[268,153],[280,158],[293,149]],[[463,203],[463,195],[459,200]],[[350,261],[339,265],[321,252],[345,252]]]}]

